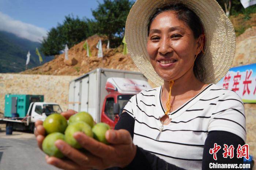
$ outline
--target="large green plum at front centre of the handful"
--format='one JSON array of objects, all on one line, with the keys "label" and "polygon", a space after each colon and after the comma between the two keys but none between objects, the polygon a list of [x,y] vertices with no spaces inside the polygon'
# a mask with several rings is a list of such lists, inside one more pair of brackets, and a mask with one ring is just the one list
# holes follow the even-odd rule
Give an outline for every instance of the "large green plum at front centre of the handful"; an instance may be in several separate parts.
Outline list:
[{"label": "large green plum at front centre of the handful", "polygon": [[82,148],[80,144],[76,141],[73,137],[73,134],[76,132],[83,132],[89,137],[93,137],[93,131],[91,131],[91,126],[87,123],[82,121],[74,122],[68,125],[67,129],[65,130],[65,141],[72,147],[76,149]]}]

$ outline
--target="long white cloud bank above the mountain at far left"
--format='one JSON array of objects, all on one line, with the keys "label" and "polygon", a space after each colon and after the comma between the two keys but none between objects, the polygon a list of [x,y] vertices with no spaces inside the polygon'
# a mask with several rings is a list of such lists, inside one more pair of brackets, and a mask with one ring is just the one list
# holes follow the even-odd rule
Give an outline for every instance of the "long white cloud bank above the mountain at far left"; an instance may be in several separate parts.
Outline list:
[{"label": "long white cloud bank above the mountain at far left", "polygon": [[47,31],[44,28],[37,27],[32,24],[23,23],[19,20],[14,20],[10,16],[0,12],[0,30],[14,33],[15,35],[40,42],[43,36],[47,36]]}]

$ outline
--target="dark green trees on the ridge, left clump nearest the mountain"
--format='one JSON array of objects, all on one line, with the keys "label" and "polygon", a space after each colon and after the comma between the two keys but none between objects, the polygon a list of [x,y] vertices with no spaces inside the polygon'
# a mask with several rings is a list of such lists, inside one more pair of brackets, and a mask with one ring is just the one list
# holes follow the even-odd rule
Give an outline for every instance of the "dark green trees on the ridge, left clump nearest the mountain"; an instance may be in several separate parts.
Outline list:
[{"label": "dark green trees on the ridge, left clump nearest the mountain", "polygon": [[93,35],[93,21],[88,19],[80,20],[78,17],[65,16],[62,24],[52,28],[48,36],[42,41],[41,51],[44,55],[58,55],[65,48],[65,44],[71,48],[80,41]]}]

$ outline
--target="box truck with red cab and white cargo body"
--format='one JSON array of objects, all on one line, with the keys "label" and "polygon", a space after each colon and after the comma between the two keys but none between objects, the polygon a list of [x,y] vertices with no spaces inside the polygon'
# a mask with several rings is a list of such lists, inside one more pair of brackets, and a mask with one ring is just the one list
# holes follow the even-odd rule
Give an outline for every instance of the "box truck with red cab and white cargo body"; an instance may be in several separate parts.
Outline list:
[{"label": "box truck with red cab and white cargo body", "polygon": [[128,100],[151,86],[140,72],[98,68],[69,83],[68,108],[114,127]]}]

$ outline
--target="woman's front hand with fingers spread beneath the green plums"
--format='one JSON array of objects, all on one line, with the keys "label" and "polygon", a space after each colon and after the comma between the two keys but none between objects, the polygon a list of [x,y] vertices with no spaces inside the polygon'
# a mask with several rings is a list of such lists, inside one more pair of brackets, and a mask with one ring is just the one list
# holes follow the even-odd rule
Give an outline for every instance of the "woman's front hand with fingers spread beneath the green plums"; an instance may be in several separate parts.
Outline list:
[{"label": "woman's front hand with fingers spread beneath the green plums", "polygon": [[137,147],[133,145],[131,135],[127,130],[108,130],[106,139],[110,145],[98,142],[81,132],[74,138],[88,152],[81,153],[62,140],[55,145],[69,160],[46,156],[46,162],[61,169],[106,169],[109,167],[125,167],[132,162]]}]

